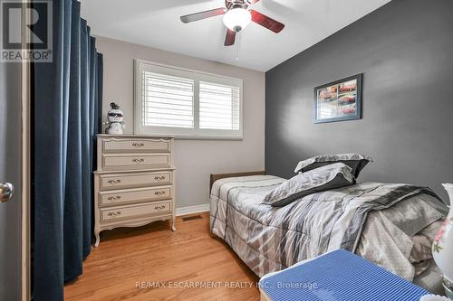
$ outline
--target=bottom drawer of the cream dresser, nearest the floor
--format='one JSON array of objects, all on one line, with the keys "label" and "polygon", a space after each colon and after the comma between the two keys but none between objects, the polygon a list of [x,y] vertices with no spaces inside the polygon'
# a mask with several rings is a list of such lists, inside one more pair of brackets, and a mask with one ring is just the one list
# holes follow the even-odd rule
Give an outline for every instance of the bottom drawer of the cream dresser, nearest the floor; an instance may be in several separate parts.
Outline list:
[{"label": "bottom drawer of the cream dresser, nearest the floor", "polygon": [[171,201],[101,209],[101,221],[132,221],[149,215],[169,214]]}]

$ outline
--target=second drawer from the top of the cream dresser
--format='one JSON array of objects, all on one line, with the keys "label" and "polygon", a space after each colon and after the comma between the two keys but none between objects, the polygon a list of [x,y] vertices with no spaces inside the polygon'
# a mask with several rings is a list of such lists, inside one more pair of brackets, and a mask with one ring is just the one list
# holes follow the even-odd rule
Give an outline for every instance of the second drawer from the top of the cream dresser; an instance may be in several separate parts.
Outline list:
[{"label": "second drawer from the top of the cream dresser", "polygon": [[137,154],[102,155],[102,169],[104,170],[130,170],[146,168],[165,168],[170,166],[170,154]]}]

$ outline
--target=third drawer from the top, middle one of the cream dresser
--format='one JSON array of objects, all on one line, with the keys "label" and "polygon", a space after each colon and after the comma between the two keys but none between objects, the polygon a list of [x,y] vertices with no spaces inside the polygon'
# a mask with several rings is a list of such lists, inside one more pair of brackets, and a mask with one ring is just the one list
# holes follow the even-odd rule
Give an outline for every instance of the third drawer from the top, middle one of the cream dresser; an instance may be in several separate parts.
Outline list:
[{"label": "third drawer from the top, middle one of the cream dresser", "polygon": [[104,174],[100,176],[101,190],[149,187],[171,183],[171,172]]}]

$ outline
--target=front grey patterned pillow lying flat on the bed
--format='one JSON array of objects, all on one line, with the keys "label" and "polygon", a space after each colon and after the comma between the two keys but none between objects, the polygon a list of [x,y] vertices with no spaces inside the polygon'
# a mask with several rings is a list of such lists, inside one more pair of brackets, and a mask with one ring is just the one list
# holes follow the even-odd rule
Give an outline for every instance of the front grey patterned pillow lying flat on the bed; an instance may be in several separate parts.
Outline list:
[{"label": "front grey patterned pillow lying flat on the bed", "polygon": [[297,174],[265,195],[261,203],[282,207],[312,193],[352,185],[352,168],[342,163],[324,165],[304,174]]}]

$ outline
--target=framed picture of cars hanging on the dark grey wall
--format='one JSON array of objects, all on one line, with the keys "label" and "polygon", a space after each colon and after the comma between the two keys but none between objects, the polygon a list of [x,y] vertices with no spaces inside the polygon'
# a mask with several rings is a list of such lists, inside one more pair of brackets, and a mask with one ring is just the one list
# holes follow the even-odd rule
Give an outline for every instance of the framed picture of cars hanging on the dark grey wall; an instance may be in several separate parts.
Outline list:
[{"label": "framed picture of cars hanging on the dark grey wall", "polygon": [[314,123],[361,118],[362,74],[314,88]]}]

